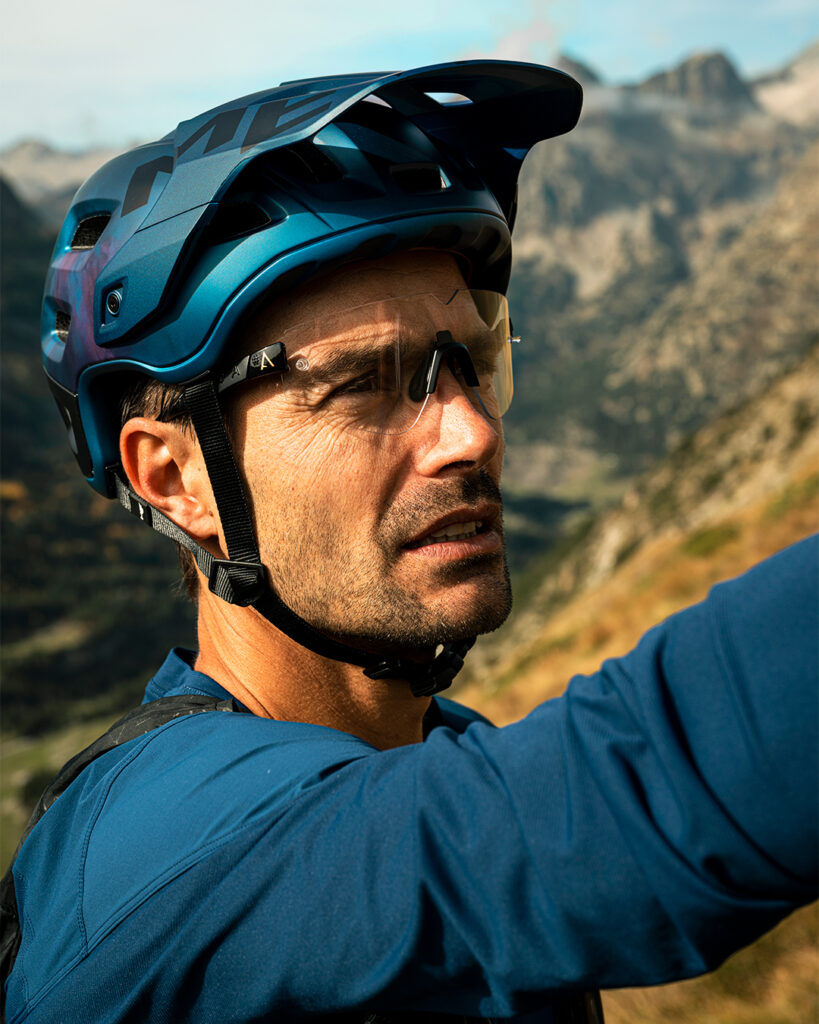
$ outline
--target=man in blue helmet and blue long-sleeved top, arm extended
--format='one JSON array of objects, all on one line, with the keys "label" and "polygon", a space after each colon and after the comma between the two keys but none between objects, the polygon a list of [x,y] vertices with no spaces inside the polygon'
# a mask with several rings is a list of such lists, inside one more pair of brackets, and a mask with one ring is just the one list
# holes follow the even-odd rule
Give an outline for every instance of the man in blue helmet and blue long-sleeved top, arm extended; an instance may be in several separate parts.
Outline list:
[{"label": "man in blue helmet and blue long-sleeved top, arm extended", "polygon": [[46,372],[196,560],[145,714],[212,703],[32,830],[10,1021],[595,1020],[815,897],[815,545],[514,726],[433,698],[509,610],[515,180],[578,112],[515,63],[291,83],[76,197]]}]

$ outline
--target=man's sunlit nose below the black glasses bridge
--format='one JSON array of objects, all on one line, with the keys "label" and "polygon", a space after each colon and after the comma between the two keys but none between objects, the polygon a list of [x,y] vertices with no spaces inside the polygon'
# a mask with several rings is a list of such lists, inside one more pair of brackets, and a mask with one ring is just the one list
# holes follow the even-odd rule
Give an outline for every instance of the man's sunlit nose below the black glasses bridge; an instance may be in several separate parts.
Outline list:
[{"label": "man's sunlit nose below the black glasses bridge", "polygon": [[501,420],[488,417],[478,396],[467,394],[468,388],[448,366],[441,367],[437,387],[413,428],[417,466],[425,475],[474,469],[503,451]]}]

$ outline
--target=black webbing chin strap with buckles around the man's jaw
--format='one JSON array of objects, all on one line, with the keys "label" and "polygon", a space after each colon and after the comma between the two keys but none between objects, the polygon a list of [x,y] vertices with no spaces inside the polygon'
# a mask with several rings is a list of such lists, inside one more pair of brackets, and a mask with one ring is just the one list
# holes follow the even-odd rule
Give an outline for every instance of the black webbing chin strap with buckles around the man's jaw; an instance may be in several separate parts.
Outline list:
[{"label": "black webbing chin strap with buckles around the man's jaw", "polygon": [[189,384],[184,390],[183,403],[190,414],[202,446],[228,557],[214,558],[172,519],[140,498],[115,470],[112,475],[120,504],[157,532],[185,547],[207,579],[208,588],[217,597],[229,604],[243,607],[252,605],[264,618],[302,647],[322,657],[360,666],[370,679],[405,679],[415,696],[429,696],[446,689],[463,668],[464,658],[475,643],[475,637],[443,644],[438,654],[427,663],[413,662],[399,654],[384,657],[331,639],[285,604],[267,583],[267,573],[259,557],[253,522],[245,499],[245,488],[213,381],[205,379]]}]

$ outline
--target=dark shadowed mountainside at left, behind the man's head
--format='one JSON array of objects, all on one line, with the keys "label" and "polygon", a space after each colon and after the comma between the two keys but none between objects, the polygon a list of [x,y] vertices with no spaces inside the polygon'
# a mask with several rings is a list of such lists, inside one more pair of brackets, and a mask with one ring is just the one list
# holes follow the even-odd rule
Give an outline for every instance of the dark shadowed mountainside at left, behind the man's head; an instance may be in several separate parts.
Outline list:
[{"label": "dark shadowed mountainside at left, behind the man's head", "polygon": [[[173,550],[91,492],[39,366],[40,302],[53,230],[0,178],[2,728],[138,702],[192,615],[174,593]],[[149,651],[149,654],[143,653]],[[138,653],[136,653],[138,652]],[[101,696],[101,705],[94,698]]]}]

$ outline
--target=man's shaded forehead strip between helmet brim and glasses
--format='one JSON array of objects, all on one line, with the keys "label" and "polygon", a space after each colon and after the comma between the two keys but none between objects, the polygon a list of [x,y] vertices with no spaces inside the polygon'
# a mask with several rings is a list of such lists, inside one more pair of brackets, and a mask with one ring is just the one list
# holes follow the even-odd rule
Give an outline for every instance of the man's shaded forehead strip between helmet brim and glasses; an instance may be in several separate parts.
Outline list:
[{"label": "man's shaded forehead strip between helmet brim and glasses", "polygon": [[305,324],[353,324],[359,311],[365,318],[377,319],[380,309],[395,308],[396,301],[421,294],[430,296],[430,310],[425,314],[423,307],[414,303],[415,316],[429,318],[433,305],[446,303],[464,288],[463,274],[448,253],[412,252],[379,262],[351,263],[326,279],[272,299],[247,326],[240,341],[241,351],[253,351]]}]

